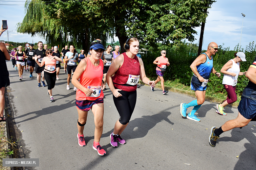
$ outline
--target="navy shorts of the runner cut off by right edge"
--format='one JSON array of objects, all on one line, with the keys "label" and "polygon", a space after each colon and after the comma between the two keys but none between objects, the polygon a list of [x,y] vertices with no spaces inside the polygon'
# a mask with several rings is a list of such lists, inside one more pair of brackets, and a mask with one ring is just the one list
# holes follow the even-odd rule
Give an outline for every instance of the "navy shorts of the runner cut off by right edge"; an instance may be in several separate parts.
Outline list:
[{"label": "navy shorts of the runner cut off by right edge", "polygon": [[256,115],[256,100],[242,96],[237,109],[246,119],[252,119]]}]

